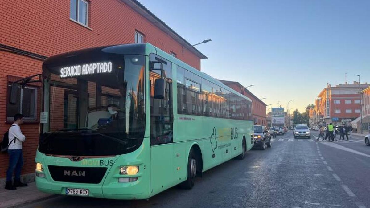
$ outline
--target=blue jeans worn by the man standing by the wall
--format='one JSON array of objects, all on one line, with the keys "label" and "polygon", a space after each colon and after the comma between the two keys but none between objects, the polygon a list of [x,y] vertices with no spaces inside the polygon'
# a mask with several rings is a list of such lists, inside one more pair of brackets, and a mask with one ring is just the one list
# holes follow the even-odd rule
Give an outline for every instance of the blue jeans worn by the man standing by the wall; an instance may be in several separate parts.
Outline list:
[{"label": "blue jeans worn by the man standing by the wall", "polygon": [[11,181],[13,172],[15,171],[14,180],[19,181],[21,177],[21,170],[23,166],[23,152],[21,149],[9,150],[9,167],[6,171],[6,181]]}]

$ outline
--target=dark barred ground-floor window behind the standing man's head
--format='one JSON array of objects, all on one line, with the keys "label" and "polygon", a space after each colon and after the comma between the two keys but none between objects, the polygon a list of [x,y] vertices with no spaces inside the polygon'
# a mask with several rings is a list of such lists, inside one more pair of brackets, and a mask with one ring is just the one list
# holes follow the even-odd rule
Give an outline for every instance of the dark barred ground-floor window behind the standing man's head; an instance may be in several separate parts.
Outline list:
[{"label": "dark barred ground-floor window behind the standing man's head", "polygon": [[[11,85],[8,86],[8,95],[10,96]],[[21,113],[24,115],[24,121],[37,120],[37,87],[17,88],[17,101],[15,104],[7,102],[6,120],[14,121],[14,115]]]}]

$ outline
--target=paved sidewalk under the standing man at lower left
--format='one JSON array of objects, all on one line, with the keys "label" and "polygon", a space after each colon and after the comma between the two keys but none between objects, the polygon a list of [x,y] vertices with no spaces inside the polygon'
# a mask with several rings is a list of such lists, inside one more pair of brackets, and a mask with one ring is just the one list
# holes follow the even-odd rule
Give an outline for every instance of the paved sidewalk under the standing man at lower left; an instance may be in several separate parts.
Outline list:
[{"label": "paved sidewalk under the standing man at lower left", "polygon": [[31,182],[27,187],[17,187],[17,190],[10,191],[0,187],[0,208],[19,207],[21,205],[47,199],[57,195],[42,193],[37,190],[35,182]]}]

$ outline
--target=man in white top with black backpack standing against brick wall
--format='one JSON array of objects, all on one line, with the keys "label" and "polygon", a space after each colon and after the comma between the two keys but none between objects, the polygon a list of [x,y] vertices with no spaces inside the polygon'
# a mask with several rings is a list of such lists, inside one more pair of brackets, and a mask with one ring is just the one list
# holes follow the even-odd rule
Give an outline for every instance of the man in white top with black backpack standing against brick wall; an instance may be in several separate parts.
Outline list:
[{"label": "man in white top with black backpack standing against brick wall", "polygon": [[[24,187],[24,184],[20,181],[21,170],[23,166],[23,152],[22,143],[26,140],[26,137],[22,134],[20,125],[23,124],[24,118],[22,114],[14,115],[14,124],[9,128],[9,167],[6,172],[6,186],[8,190],[15,190],[16,187]],[[14,185],[11,182],[14,172]]]}]

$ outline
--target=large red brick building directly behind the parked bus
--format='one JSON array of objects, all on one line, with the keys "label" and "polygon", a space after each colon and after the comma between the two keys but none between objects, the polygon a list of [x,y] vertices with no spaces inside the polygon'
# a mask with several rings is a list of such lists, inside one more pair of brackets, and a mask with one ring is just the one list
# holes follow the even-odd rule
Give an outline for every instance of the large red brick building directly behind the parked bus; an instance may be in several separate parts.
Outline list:
[{"label": "large red brick building directly behind the parked bus", "polygon": [[[26,116],[22,174],[35,169],[41,85],[28,85],[13,106],[6,96],[9,81],[41,73],[43,60],[55,54],[135,42],[152,43],[198,70],[207,58],[136,0],[1,1],[0,132],[7,131],[14,112]],[[7,155],[1,154],[0,178],[7,166]]]}]

